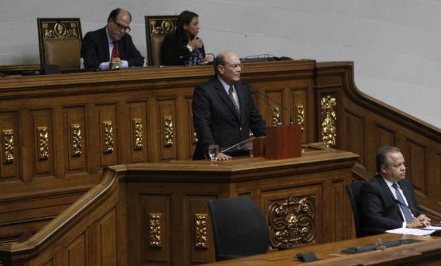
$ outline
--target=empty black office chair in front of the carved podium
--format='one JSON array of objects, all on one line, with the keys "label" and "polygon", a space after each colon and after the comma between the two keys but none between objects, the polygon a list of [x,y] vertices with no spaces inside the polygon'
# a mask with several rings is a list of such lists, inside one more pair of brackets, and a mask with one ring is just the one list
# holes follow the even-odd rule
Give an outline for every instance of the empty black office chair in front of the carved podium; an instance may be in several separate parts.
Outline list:
[{"label": "empty black office chair in front of the carved podium", "polygon": [[208,203],[216,260],[263,254],[268,228],[260,209],[249,198],[223,198]]}]

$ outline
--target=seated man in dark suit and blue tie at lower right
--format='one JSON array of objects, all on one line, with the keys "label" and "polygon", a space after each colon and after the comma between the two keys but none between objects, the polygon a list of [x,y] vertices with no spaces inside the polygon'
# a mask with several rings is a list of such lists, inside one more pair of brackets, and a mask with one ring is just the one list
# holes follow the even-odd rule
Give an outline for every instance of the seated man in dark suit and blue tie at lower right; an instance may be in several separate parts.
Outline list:
[{"label": "seated man in dark suit and blue tie at lower right", "polygon": [[[429,226],[420,214],[413,187],[406,179],[404,157],[397,147],[381,147],[376,157],[377,175],[360,191],[362,230],[367,234],[400,227]],[[409,207],[406,207],[409,206]],[[378,229],[375,232],[374,229]]]}]

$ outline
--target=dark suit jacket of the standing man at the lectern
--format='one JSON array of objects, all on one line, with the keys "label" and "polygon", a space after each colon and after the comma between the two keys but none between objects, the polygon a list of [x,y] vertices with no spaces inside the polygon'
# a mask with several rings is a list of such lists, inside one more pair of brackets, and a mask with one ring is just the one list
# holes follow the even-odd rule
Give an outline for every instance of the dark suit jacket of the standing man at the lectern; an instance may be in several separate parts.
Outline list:
[{"label": "dark suit jacket of the standing man at the lectern", "polygon": [[240,117],[234,104],[216,76],[207,83],[196,86],[193,94],[193,123],[198,144],[193,159],[207,158],[209,144],[220,148],[230,147],[254,136],[265,136],[265,121],[254,104],[249,84],[243,81],[235,85],[240,105]]}]

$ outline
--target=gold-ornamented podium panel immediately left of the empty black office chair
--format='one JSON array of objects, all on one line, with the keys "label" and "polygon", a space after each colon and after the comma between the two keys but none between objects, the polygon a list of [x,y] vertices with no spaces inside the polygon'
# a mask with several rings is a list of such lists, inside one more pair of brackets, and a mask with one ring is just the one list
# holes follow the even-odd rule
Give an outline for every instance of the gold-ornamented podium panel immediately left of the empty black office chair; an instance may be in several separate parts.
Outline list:
[{"label": "gold-ornamented podium panel immediately left of the empty black office chair", "polygon": [[[189,237],[185,243],[189,247],[189,261],[193,264],[209,263],[214,258],[214,236],[212,221],[208,211],[208,201],[218,198],[217,195],[186,195],[189,206]],[[187,260],[188,261],[188,260]]]}]

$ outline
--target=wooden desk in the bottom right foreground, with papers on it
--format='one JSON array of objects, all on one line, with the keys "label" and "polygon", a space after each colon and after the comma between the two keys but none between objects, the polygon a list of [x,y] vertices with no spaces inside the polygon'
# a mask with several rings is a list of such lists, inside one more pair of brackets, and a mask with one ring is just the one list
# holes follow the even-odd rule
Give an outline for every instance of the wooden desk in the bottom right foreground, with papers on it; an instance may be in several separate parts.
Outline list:
[{"label": "wooden desk in the bottom right foreground, with papers on it", "polygon": [[[398,239],[419,239],[424,242],[389,247],[387,249],[364,252],[360,254],[344,254],[340,251],[345,247],[356,247],[371,243],[394,241]],[[303,263],[295,257],[298,253],[313,252],[320,260],[313,263]],[[441,238],[431,236],[407,236],[401,234],[380,234],[355,238],[347,241],[310,245],[267,254],[248,256],[234,260],[224,260],[205,266],[235,266],[235,265],[440,265]]]}]

